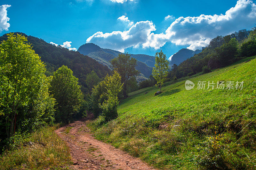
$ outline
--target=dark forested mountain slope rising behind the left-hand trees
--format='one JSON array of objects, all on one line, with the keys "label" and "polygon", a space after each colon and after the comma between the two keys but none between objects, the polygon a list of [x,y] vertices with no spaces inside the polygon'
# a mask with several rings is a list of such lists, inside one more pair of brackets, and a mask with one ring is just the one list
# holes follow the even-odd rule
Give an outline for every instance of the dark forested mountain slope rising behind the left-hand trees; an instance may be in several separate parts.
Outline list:
[{"label": "dark forested mountain slope rising behind the left-hand trees", "polygon": [[[46,64],[46,75],[51,75],[53,71],[57,70],[62,65],[66,65],[73,71],[74,76],[79,79],[79,85],[82,86],[81,90],[84,93],[90,90],[87,89],[85,83],[86,74],[94,70],[100,78],[103,78],[106,74],[111,72],[107,66],[79,52],[69,51],[64,47],[56,47],[45,42],[43,39],[28,36],[22,32],[15,32],[15,34],[17,33],[27,37],[28,43],[31,43],[31,46],[33,46],[32,49],[35,50],[41,57],[41,60]],[[7,35],[4,34],[0,37],[0,42],[6,39]]]}]

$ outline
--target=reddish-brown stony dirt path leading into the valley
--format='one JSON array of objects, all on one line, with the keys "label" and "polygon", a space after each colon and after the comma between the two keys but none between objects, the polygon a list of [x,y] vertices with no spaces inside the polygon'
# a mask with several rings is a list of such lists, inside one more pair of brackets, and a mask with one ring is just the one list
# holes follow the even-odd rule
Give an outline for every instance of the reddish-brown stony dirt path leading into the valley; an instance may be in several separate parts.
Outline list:
[{"label": "reddish-brown stony dirt path leading into the valley", "polygon": [[94,139],[83,121],[76,121],[55,131],[68,143],[74,169],[153,170],[139,158]]}]

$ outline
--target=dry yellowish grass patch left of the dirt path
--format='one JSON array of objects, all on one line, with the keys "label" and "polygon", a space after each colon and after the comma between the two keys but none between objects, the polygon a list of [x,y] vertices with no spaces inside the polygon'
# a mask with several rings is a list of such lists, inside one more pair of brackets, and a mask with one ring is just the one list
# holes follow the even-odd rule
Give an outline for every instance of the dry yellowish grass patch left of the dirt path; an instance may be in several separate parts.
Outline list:
[{"label": "dry yellowish grass patch left of the dirt path", "polygon": [[66,169],[72,163],[69,148],[54,132],[56,126],[44,127],[0,157],[0,169]]}]

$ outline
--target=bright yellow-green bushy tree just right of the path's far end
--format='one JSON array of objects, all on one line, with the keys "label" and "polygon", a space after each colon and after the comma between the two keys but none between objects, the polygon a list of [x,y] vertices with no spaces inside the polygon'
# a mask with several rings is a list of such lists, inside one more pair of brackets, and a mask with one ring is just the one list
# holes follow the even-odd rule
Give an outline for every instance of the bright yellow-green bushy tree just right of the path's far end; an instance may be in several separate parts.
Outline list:
[{"label": "bright yellow-green bushy tree just right of the path's far end", "polygon": [[107,92],[105,94],[108,97],[108,100],[105,100],[100,108],[102,109],[102,116],[105,117],[105,120],[112,120],[118,116],[116,108],[119,104],[118,94],[123,88],[120,74],[114,70],[112,76],[106,76],[104,84],[106,86]]}]

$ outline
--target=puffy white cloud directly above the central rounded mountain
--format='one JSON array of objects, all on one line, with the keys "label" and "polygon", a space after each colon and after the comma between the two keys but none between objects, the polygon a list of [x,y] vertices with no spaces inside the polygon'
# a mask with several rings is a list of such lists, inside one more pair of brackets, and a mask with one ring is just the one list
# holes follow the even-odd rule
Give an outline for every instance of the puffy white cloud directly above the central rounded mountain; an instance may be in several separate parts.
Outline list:
[{"label": "puffy white cloud directly above the central rounded mountain", "polygon": [[130,46],[138,46],[147,42],[150,32],[155,30],[155,25],[151,21],[140,21],[124,32],[96,32],[86,40],[86,43],[93,42],[102,48],[124,51]]}]

